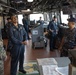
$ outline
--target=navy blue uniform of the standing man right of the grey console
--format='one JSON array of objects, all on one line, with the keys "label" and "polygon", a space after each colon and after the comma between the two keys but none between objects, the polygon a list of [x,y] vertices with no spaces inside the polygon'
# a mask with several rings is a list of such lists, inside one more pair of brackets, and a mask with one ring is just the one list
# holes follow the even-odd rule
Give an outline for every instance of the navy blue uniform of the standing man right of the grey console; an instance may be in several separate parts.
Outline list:
[{"label": "navy blue uniform of the standing man right of the grey console", "polygon": [[48,30],[53,30],[53,32],[51,32],[51,36],[50,36],[50,50],[55,49],[55,42],[56,42],[56,37],[57,37],[57,33],[58,33],[58,23],[55,23],[54,21],[51,21],[48,25]]}]

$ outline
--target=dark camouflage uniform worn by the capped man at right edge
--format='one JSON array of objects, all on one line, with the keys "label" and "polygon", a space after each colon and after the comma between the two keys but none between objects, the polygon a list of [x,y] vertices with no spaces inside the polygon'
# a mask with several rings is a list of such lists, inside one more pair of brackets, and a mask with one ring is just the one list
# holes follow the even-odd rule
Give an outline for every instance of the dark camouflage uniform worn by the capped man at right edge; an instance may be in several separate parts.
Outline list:
[{"label": "dark camouflage uniform worn by the capped man at right edge", "polygon": [[69,28],[65,32],[64,45],[62,47],[61,56],[68,56],[68,49],[73,49],[76,46],[76,28],[70,30]]}]

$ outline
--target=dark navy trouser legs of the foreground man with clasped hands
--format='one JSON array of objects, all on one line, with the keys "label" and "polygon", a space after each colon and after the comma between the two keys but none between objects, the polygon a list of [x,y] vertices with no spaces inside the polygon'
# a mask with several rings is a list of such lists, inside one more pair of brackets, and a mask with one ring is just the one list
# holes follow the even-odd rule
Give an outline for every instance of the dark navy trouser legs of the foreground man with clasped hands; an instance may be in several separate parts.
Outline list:
[{"label": "dark navy trouser legs of the foreground man with clasped hands", "polygon": [[19,70],[23,70],[24,45],[14,45],[11,49],[11,70],[10,75],[16,75],[19,61]]}]

